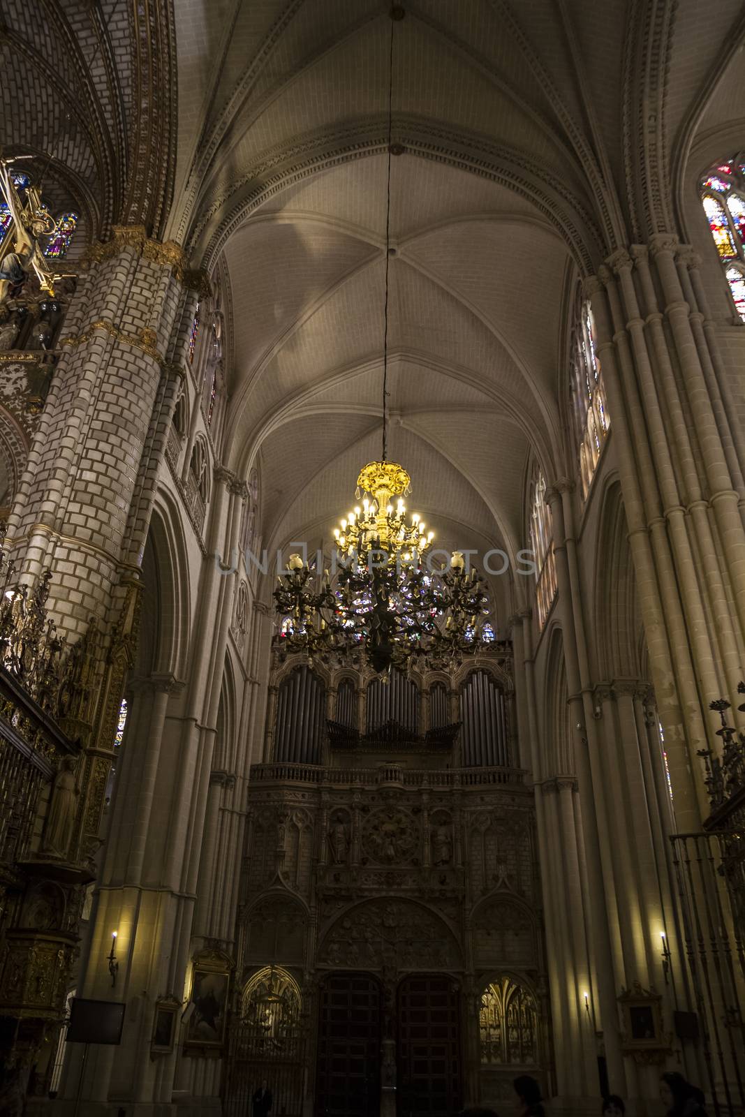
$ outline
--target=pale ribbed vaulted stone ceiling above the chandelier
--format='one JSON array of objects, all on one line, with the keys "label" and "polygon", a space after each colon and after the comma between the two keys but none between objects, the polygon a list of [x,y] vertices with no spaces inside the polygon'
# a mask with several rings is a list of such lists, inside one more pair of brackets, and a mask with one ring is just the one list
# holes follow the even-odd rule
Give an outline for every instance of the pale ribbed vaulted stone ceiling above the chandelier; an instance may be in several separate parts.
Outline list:
[{"label": "pale ribbed vaulted stone ceiling above the chandelier", "polygon": [[[739,0],[410,0],[400,22],[386,0],[10,9],[12,140],[56,156],[92,232],[134,220],[143,121],[163,132],[143,220],[228,288],[220,454],[259,465],[270,546],[328,538],[379,454],[392,29],[389,449],[443,545],[523,544],[531,456],[550,479],[572,466],[577,277],[686,237],[685,183],[745,136]],[[175,154],[152,96],[171,26]]]}]

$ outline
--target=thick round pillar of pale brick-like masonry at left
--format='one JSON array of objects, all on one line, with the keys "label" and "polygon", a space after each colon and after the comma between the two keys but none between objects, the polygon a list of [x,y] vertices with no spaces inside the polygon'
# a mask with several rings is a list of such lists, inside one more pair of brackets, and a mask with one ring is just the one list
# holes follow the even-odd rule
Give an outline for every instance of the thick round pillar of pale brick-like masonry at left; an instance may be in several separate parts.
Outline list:
[{"label": "thick round pillar of pale brick-like masonry at left", "polygon": [[51,566],[51,613],[70,636],[92,615],[105,619],[114,586],[137,564],[170,422],[164,357],[182,297],[169,264],[134,245],[94,264],[70,307],[9,524],[23,577]]}]

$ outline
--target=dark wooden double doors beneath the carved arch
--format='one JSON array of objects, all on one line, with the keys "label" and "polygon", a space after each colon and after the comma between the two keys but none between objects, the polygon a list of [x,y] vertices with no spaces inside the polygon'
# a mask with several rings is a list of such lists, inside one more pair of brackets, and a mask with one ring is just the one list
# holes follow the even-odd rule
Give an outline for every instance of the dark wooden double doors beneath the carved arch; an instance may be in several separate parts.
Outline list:
[{"label": "dark wooden double doors beneath the carved arch", "polygon": [[[458,994],[446,974],[404,978],[397,1003],[398,1117],[460,1109]],[[382,991],[370,974],[331,974],[321,995],[316,1117],[378,1117]]]}]

